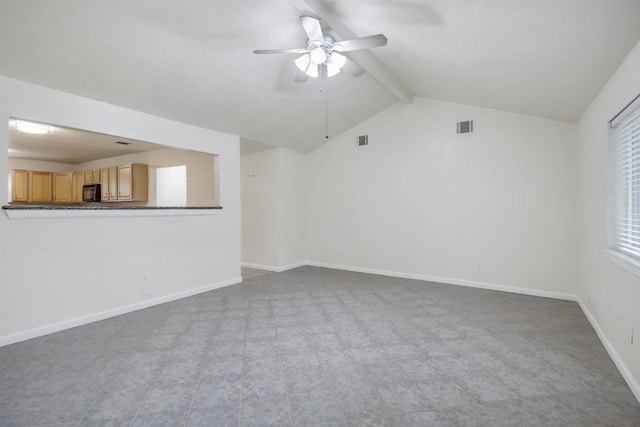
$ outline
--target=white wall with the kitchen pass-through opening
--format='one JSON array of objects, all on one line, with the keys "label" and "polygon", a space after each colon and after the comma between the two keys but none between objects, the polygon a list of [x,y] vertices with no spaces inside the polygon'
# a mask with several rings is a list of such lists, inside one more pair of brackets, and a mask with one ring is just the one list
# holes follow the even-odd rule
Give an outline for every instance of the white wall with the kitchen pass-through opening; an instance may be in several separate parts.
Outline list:
[{"label": "white wall with the kitchen pass-through opening", "polygon": [[[220,215],[16,220],[0,215],[0,345],[240,280],[239,138],[0,77],[0,117],[219,154]],[[8,132],[0,130],[0,152]],[[0,156],[0,200],[8,161]],[[142,273],[151,296],[140,296]]]}]

